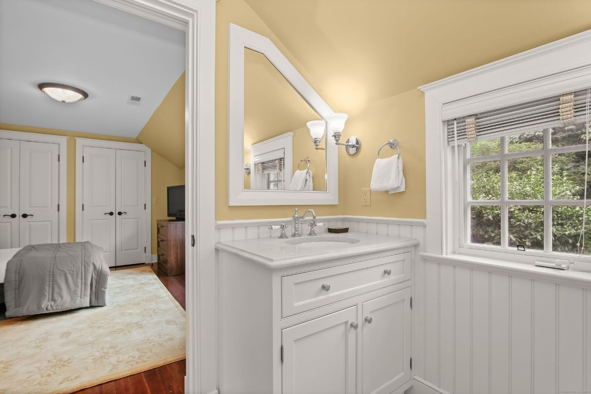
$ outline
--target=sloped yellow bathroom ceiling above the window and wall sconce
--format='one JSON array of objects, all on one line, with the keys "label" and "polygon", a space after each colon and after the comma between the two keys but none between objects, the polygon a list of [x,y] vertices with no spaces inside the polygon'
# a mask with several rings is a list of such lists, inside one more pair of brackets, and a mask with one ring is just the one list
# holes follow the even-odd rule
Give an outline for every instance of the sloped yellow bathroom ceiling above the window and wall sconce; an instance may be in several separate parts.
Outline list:
[{"label": "sloped yellow bathroom ceiling above the window and wall sconce", "polygon": [[591,28],[589,0],[245,1],[348,113]]}]

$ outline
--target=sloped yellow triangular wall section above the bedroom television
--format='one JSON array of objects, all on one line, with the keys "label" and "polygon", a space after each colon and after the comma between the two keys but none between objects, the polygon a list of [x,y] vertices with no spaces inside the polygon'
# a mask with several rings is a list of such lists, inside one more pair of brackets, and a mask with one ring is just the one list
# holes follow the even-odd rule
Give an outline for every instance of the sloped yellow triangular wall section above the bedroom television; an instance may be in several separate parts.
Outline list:
[{"label": "sloped yellow triangular wall section above the bedroom television", "polygon": [[185,73],[164,97],[152,113],[137,139],[163,158],[176,165],[185,166]]}]

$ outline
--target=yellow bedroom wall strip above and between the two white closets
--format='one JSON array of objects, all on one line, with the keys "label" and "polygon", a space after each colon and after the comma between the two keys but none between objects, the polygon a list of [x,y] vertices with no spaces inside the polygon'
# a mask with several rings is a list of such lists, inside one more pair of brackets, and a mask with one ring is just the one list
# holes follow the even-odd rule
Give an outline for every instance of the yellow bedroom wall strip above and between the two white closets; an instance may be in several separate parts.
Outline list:
[{"label": "yellow bedroom wall strip above and between the two white closets", "polygon": [[24,131],[28,133],[43,133],[51,135],[66,135],[67,139],[67,172],[66,172],[66,241],[74,242],[76,239],[76,139],[95,138],[106,139],[108,141],[137,142],[134,138],[125,138],[112,135],[101,135],[92,133],[82,133],[76,131],[44,129],[38,127],[7,125],[0,123],[0,129],[12,131]]}]

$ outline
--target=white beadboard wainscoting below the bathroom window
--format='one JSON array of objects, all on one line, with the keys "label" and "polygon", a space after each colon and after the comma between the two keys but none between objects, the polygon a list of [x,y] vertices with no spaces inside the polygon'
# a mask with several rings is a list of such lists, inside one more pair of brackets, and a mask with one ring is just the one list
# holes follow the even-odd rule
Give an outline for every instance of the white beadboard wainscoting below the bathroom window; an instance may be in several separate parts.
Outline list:
[{"label": "white beadboard wainscoting below the bathroom window", "polygon": [[418,259],[413,393],[591,390],[591,283],[529,270]]}]

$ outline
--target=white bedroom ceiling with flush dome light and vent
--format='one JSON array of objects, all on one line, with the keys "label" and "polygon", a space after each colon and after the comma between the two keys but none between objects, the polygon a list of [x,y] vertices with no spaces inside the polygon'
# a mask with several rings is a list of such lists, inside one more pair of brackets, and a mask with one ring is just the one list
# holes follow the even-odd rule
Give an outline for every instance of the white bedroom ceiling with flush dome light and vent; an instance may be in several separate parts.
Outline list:
[{"label": "white bedroom ceiling with flush dome light and vent", "polygon": [[[94,0],[0,0],[0,123],[135,138],[184,68],[175,28]],[[60,103],[41,82],[89,97]]]}]

